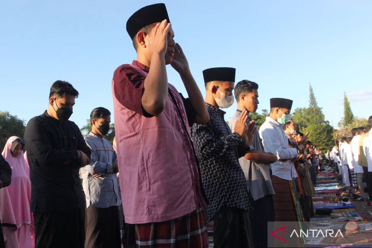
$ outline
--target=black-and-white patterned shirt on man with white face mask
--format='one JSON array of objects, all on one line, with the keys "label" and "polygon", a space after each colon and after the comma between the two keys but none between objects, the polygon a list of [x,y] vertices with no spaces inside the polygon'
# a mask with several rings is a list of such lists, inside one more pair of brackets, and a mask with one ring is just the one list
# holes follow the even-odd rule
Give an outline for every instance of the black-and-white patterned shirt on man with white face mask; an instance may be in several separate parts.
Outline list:
[{"label": "black-and-white patterned shirt on man with white face mask", "polygon": [[251,209],[246,178],[238,158],[247,150],[241,148],[242,137],[231,130],[224,120],[225,112],[205,103],[210,120],[194,124],[193,142],[200,163],[203,188],[209,201],[208,221],[222,207]]}]

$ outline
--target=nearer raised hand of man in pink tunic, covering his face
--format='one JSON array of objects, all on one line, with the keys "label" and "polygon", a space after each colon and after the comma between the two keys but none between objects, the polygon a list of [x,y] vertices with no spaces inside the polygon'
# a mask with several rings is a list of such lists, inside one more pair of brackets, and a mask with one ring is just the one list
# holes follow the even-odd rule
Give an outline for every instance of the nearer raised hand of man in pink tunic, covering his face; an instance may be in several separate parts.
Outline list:
[{"label": "nearer raised hand of man in pink tunic, covering his face", "polygon": [[165,54],[167,50],[167,37],[170,27],[171,23],[167,23],[167,20],[163,20],[161,23],[156,24],[154,34],[150,42],[152,53]]}]

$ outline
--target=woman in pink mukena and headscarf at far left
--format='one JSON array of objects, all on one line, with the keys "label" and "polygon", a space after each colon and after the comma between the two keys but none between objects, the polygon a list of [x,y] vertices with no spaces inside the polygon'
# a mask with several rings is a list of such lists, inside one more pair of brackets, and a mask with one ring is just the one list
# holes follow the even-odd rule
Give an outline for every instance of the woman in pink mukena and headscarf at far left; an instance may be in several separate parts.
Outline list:
[{"label": "woman in pink mukena and headscarf at far left", "polygon": [[[23,142],[20,137],[11,136],[2,152],[3,157],[12,169],[12,181],[6,188],[2,188],[4,195],[9,195],[6,208],[0,208],[0,214],[13,219],[14,228],[4,227],[3,231],[9,234],[5,240],[5,247],[9,248],[32,248],[34,247],[34,219],[30,212],[31,181],[30,169],[24,159]],[[4,230],[6,229],[6,230]],[[15,233],[10,232],[14,230]]]}]

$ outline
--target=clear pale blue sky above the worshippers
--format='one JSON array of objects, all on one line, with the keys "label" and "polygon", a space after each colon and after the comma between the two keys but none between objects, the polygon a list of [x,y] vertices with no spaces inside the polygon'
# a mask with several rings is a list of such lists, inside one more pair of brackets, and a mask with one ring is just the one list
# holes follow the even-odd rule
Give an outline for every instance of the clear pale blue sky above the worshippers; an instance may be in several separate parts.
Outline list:
[{"label": "clear pale blue sky above the worshippers", "polygon": [[[128,17],[158,1],[1,1],[0,111],[28,121],[43,113],[57,79],[80,93],[70,120],[82,127],[94,107],[113,111],[114,70],[136,58]],[[235,67],[236,81],[259,84],[259,107],[271,97],[308,106],[309,82],[326,120],[343,115],[343,92],[355,116],[372,115],[372,1],[164,1],[195,79],[202,70]],[[168,79],[185,93],[169,66]],[[226,119],[236,104],[227,109]]]}]

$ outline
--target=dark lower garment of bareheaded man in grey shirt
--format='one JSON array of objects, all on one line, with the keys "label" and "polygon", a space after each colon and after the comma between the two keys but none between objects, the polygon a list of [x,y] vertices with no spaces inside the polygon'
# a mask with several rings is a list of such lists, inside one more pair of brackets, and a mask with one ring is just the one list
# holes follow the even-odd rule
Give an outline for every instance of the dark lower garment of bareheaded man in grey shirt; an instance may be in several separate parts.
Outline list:
[{"label": "dark lower garment of bareheaded man in grey shirt", "polygon": [[273,196],[265,196],[253,202],[249,212],[254,247],[268,247],[268,222],[275,221]]}]

